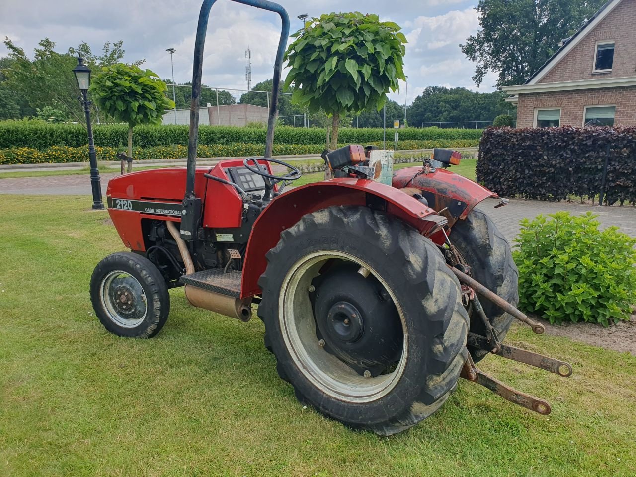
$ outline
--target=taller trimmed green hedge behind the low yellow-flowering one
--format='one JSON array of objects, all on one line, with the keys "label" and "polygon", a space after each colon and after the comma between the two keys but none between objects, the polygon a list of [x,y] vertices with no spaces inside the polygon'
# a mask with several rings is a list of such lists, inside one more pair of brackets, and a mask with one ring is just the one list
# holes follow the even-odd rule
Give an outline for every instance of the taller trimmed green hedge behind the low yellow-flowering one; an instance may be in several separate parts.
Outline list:
[{"label": "taller trimmed green hedge behind the low yellow-flowering one", "polygon": [[[387,139],[392,139],[391,130]],[[128,141],[128,126],[125,124],[102,124],[93,127],[95,144],[102,147],[125,148]],[[198,142],[204,146],[216,144],[265,144],[265,128],[232,126],[201,126]],[[399,130],[402,141],[479,141],[481,130],[404,128]],[[382,129],[341,128],[338,138],[343,143],[367,144],[382,141]],[[326,130],[322,128],[276,128],[274,142],[277,144],[324,144]],[[188,126],[137,126],[133,141],[141,148],[188,144]],[[33,148],[44,151],[52,146],[78,148],[86,144],[86,130],[79,124],[50,124],[43,121],[1,121],[0,149]],[[121,149],[123,150],[123,149]]]}]

